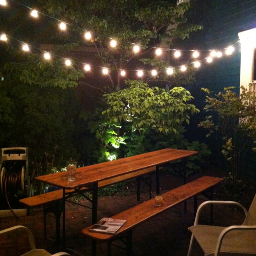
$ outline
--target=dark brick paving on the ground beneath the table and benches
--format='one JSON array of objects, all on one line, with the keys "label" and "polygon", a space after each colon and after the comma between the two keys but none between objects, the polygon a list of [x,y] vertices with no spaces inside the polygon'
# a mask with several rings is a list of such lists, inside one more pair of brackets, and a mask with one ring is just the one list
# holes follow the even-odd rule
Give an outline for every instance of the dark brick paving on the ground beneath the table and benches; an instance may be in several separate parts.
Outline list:
[{"label": "dark brick paving on the ground beneath the table and benches", "polygon": [[[166,176],[162,177],[166,178]],[[153,183],[154,184],[154,183]],[[170,182],[168,187],[162,187],[162,193],[182,184],[182,179]],[[142,201],[148,200],[148,193],[142,194]],[[198,196],[198,204],[206,200],[204,196]],[[82,204],[90,206],[87,201]],[[136,195],[129,196],[106,196],[98,200],[98,219],[103,216],[111,217],[123,210],[138,204]],[[204,212],[203,222],[207,222],[209,211]],[[240,224],[243,215],[233,208],[214,209],[214,224],[231,225]],[[222,224],[220,220],[223,220]],[[235,220],[232,221],[232,220]],[[62,220],[61,220],[62,222]],[[190,241],[188,227],[194,222],[193,199],[187,201],[187,214],[184,214],[184,205],[180,204],[171,210],[152,218],[151,220],[134,228],[133,231],[133,252],[135,256],[186,256]],[[220,223],[219,223],[220,222]],[[80,234],[80,230],[91,224],[91,210],[76,204],[66,203],[66,245],[68,248],[83,254],[91,255],[91,241]],[[35,239],[36,248],[44,248],[50,253],[62,251],[62,246],[49,240],[44,240],[43,234],[43,212],[42,208],[33,209],[29,216],[20,218],[0,218],[0,230],[15,225],[28,227]],[[55,236],[55,219],[47,218],[48,237]],[[121,244],[122,245],[122,244]],[[0,236],[0,255],[18,256],[28,250],[28,240],[24,236],[2,235]],[[124,250],[112,246],[112,256],[125,255]],[[72,254],[71,255],[76,255]],[[105,243],[98,243],[98,256],[107,255]],[[195,246],[193,256],[203,255],[199,246]]]}]

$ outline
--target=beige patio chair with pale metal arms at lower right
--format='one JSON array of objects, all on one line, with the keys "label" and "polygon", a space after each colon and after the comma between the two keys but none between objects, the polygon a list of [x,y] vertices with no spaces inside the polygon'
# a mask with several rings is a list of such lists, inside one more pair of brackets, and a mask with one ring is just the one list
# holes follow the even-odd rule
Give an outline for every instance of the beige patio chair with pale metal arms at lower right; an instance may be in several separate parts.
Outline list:
[{"label": "beige patio chair with pale metal arms at lower right", "polygon": [[[243,224],[229,227],[198,225],[202,209],[209,204],[229,204],[242,208],[246,216]],[[219,256],[222,253],[256,255],[256,195],[248,212],[244,206],[233,201],[206,201],[202,203],[196,212],[194,226],[188,230],[192,232],[188,256],[191,255],[194,238],[204,251],[204,255],[207,256]]]}]

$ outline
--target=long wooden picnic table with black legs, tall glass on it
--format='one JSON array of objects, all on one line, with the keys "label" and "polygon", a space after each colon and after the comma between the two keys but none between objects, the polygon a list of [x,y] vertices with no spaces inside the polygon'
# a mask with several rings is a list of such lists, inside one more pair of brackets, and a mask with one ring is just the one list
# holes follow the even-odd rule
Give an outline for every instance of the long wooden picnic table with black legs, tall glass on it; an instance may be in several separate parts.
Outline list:
[{"label": "long wooden picnic table with black legs, tall glass on it", "polygon": [[[156,193],[160,192],[159,166],[175,160],[186,159],[198,154],[197,151],[166,148],[154,152],[139,154],[94,164],[76,169],[76,179],[68,181],[67,172],[58,172],[36,177],[36,180],[62,188],[63,201],[67,198],[66,190],[73,189],[74,193],[86,187],[92,189],[92,224],[97,222],[98,182],[156,166]],[[68,196],[72,196],[70,194]],[[65,246],[65,203],[63,204],[63,244]]]}]

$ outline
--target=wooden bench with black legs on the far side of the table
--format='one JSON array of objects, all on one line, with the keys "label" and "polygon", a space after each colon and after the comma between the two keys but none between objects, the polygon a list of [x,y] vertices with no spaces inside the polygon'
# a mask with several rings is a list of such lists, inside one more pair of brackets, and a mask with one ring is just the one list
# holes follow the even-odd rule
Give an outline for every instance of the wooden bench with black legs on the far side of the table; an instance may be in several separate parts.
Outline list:
[{"label": "wooden bench with black legs on the far side of the table", "polygon": [[[106,186],[110,186],[116,184],[118,182],[122,182],[125,180],[129,180],[131,178],[137,178],[137,200],[140,201],[140,181],[144,181],[149,186],[149,195],[151,198],[151,190],[152,190],[152,177],[151,174],[156,171],[156,167],[152,166],[149,168],[145,168],[143,170],[139,170],[137,172],[132,172],[129,174],[125,174],[122,176],[118,176],[115,178],[111,178],[108,180],[102,180],[98,183],[98,188],[103,188]],[[142,175],[150,174],[149,180],[146,180],[142,177]],[[82,188],[80,192],[88,192],[90,189]],[[66,190],[66,193],[72,193],[74,190]],[[56,242],[60,242],[60,217],[62,214],[62,189],[40,194],[37,196],[31,196],[28,198],[20,199],[20,203],[25,204],[27,207],[37,207],[44,206],[44,238],[46,239],[46,214],[48,212],[52,212],[56,218]],[[51,240],[51,239],[50,239]]]}]

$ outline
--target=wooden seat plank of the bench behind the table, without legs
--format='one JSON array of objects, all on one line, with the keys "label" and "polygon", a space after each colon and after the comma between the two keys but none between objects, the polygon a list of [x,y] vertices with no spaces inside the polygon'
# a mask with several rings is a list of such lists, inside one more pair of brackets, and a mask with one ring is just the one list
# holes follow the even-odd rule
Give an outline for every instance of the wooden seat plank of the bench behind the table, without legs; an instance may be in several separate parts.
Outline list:
[{"label": "wooden seat plank of the bench behind the table, without legs", "polygon": [[[131,178],[140,176],[140,175],[144,175],[144,174],[149,174],[152,172],[156,171],[156,167],[150,167],[150,168],[146,168],[143,170],[140,170],[138,172],[132,172],[132,173],[128,173],[122,176],[118,176],[118,177],[114,177],[108,180],[103,180],[101,182],[99,182],[98,187],[102,188],[105,186],[110,186],[113,184],[116,184],[117,182],[121,182],[121,181],[125,181],[125,180],[129,180]],[[90,191],[89,188],[82,188],[80,191],[85,192],[86,190]],[[74,192],[74,190],[66,190],[67,193],[69,192]],[[44,194],[40,194],[37,196],[31,196],[28,198],[23,198],[20,199],[20,203],[25,204],[26,206],[29,207],[35,207],[35,206],[41,206],[50,202],[56,202],[58,200],[62,199],[62,189],[60,190],[56,190],[56,191],[52,191],[52,192],[48,192],[48,193],[44,193]]]}]

